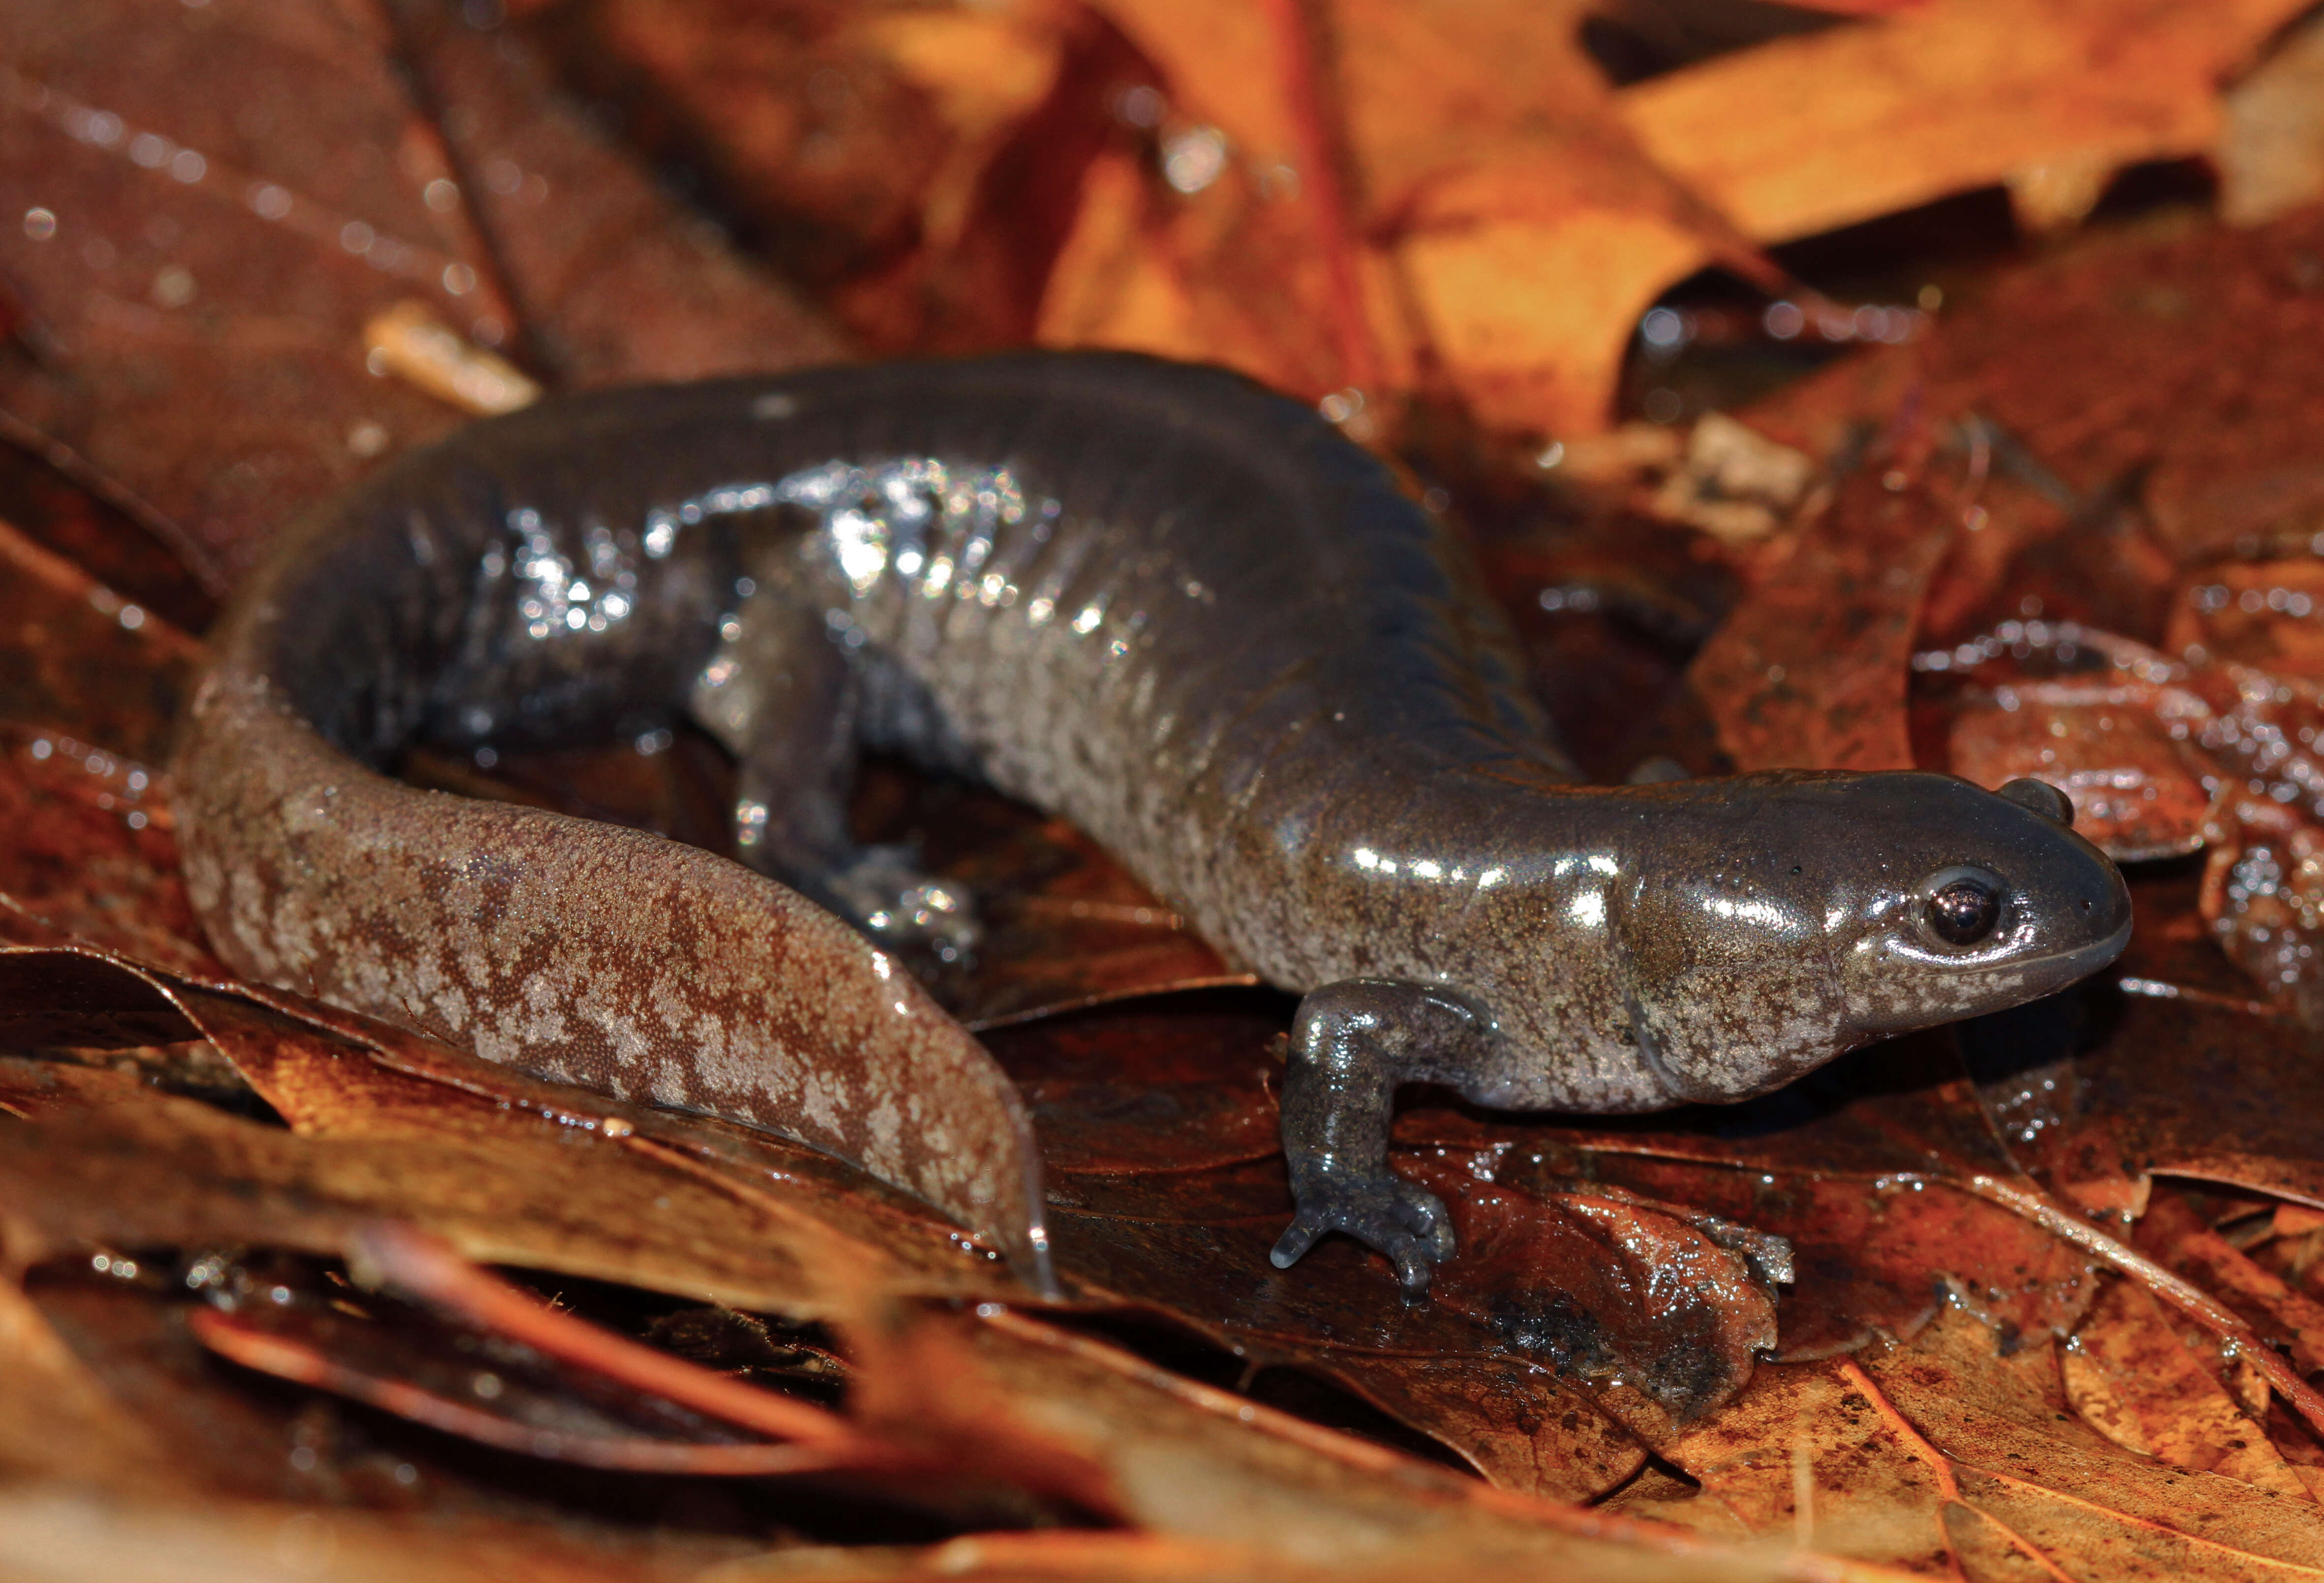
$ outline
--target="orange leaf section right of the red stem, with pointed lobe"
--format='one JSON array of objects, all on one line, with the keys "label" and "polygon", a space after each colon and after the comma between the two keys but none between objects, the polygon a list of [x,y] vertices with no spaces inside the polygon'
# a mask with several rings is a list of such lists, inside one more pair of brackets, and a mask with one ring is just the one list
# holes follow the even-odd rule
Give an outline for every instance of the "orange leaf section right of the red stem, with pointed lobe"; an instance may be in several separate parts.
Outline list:
[{"label": "orange leaf section right of the red stem, with pointed lobe", "polygon": [[1608,423],[1631,325],[1708,263],[1773,284],[1743,235],[1631,139],[1580,7],[1334,9],[1362,195],[1432,360],[1487,428]]}]

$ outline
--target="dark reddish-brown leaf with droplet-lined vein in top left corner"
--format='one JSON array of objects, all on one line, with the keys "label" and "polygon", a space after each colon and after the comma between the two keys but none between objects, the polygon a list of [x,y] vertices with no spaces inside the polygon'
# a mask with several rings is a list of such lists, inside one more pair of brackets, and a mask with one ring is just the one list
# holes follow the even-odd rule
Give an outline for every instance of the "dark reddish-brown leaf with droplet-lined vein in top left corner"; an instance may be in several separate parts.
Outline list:
[{"label": "dark reddish-brown leaf with droplet-lined vein in top left corner", "polygon": [[[23,7],[5,23],[9,272],[30,305],[0,402],[174,523],[207,572],[390,444],[456,414],[363,367],[360,328],[418,295],[509,309],[360,9]],[[205,81],[246,77],[249,95]]]}]

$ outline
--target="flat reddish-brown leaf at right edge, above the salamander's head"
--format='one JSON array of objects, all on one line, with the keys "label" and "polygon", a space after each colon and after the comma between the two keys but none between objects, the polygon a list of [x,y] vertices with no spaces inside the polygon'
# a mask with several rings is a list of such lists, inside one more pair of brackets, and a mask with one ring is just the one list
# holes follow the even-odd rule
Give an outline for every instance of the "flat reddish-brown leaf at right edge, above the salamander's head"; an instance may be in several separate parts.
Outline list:
[{"label": "flat reddish-brown leaf at right edge, above the salamander's head", "polygon": [[[2129,516],[2145,523],[2124,535],[2113,511],[2085,521],[2066,565],[2040,579],[2040,609],[2024,609],[2013,583],[2045,539],[2068,542],[2066,521],[2036,490],[2003,493],[1996,479],[1975,500],[1989,509],[1978,537],[2003,535],[1994,576],[1980,597],[1948,600],[1959,625],[1934,637],[2043,616],[2157,644],[2168,590],[2189,572],[2308,553],[2324,528],[2312,444],[2324,370],[2305,356],[2324,332],[2319,260],[2317,209],[2254,230],[2164,214],[2092,232],[1999,272],[1924,342],[1843,360],[1745,416],[1817,458],[1850,451],[1864,423],[1943,437],[1973,416],[2068,504],[2129,486]],[[1966,474],[1968,460],[1943,477]],[[1989,472],[2008,465],[1994,458]],[[2124,618],[2138,604],[2117,593],[2126,572],[2164,595],[2145,618]],[[2094,609],[2094,595],[2115,609]]]}]

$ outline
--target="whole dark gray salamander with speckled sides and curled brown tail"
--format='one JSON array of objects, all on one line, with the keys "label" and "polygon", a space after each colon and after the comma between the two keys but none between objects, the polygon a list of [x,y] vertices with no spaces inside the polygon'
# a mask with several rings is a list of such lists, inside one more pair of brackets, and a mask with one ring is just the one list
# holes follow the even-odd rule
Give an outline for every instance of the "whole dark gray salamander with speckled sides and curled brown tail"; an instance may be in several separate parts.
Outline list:
[{"label": "whole dark gray salamander with speckled sides and curled brown tail", "polygon": [[[1408,1290],[1452,1239],[1387,1169],[1399,1083],[1741,1099],[2045,995],[2129,934],[2119,874],[2040,795],[1580,786],[1457,539],[1380,463],[1306,407],[1143,358],[479,423],[295,535],[218,656],[177,774],[193,897],[239,969],[795,1132],[988,1230],[1030,1172],[1004,1148],[1023,1120],[890,953],[718,858],[363,765],[690,716],[741,762],[739,851],[899,951],[974,948],[974,909],[851,846],[858,744],[1074,818],[1304,995],[1276,1260],[1343,1230]],[[1950,946],[1924,911],[1961,872],[1999,911]],[[830,1053],[851,1079],[818,1076]],[[981,1095],[976,1125],[913,1088],[925,1062]]]}]

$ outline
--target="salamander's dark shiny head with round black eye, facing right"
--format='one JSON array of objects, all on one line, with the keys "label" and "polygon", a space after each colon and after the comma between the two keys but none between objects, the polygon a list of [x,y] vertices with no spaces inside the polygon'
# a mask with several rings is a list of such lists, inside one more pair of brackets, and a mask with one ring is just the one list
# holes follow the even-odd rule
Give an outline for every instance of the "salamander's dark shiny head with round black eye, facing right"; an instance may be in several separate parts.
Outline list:
[{"label": "salamander's dark shiny head with round black eye, facing right", "polygon": [[1641,1053],[1678,1099],[1745,1097],[1859,1044],[2050,995],[2131,939],[2122,874],[2040,781],[1664,790],[1692,860],[1641,886],[1622,937]]}]

